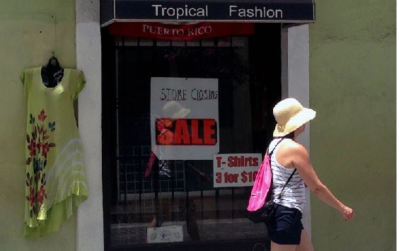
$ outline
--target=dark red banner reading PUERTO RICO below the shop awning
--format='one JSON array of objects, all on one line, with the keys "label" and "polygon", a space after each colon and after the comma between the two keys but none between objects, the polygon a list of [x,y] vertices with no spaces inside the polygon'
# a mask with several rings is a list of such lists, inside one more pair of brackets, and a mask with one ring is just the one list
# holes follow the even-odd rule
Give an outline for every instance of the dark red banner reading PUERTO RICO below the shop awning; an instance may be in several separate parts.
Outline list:
[{"label": "dark red banner reading PUERTO RICO below the shop awning", "polygon": [[198,40],[227,35],[254,33],[253,23],[192,23],[173,25],[166,23],[112,23],[110,34],[125,37],[148,37],[159,40]]}]

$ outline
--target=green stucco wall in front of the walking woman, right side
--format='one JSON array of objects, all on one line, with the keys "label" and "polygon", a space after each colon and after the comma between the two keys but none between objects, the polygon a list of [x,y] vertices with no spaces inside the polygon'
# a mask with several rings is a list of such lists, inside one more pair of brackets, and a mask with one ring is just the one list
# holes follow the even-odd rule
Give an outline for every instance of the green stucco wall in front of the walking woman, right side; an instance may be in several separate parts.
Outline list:
[{"label": "green stucco wall in front of the walking woman, right side", "polygon": [[316,250],[396,248],[395,1],[316,0],[310,25],[311,158],[356,218],[311,200]]}]

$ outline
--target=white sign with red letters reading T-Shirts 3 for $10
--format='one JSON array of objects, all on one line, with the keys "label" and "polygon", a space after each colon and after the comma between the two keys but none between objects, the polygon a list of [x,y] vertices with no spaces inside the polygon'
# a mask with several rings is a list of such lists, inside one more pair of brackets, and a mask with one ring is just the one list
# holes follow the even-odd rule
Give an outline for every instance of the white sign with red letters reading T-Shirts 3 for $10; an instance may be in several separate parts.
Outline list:
[{"label": "white sign with red letters reading T-Shirts 3 for $10", "polygon": [[262,163],[260,153],[214,155],[214,187],[253,186]]}]

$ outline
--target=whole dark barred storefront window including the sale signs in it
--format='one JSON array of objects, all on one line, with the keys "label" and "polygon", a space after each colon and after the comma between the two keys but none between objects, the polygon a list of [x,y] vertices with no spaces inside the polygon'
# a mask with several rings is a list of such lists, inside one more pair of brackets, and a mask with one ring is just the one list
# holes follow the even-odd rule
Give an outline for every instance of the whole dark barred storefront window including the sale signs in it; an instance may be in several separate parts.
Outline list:
[{"label": "whole dark barred storefront window including the sale signs in it", "polygon": [[195,41],[111,38],[103,46],[105,243],[178,250],[266,240],[245,209],[281,97],[279,24]]}]

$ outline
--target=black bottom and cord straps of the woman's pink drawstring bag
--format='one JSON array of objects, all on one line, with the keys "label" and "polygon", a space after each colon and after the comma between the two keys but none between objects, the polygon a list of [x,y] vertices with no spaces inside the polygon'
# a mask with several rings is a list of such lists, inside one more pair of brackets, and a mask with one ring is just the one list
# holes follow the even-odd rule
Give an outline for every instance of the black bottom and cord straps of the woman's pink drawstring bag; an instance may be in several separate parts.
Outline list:
[{"label": "black bottom and cord straps of the woman's pink drawstring bag", "polygon": [[[276,144],[276,146],[280,142],[281,141],[279,141]],[[269,156],[272,156],[272,153],[273,153],[274,149],[276,148],[276,146],[274,146],[274,148],[273,148],[272,152],[269,154]],[[270,162],[271,162],[271,159],[272,158],[270,158]],[[269,163],[269,164],[270,164],[270,167],[271,167],[272,163]],[[288,182],[291,180],[291,178],[294,175],[295,171],[296,171],[296,168],[294,169],[294,171],[289,176],[287,182],[285,182],[284,187],[282,188],[282,192],[284,191],[284,188],[287,186]],[[275,209],[275,206],[274,206],[275,203],[272,201],[272,198],[271,198],[271,190],[272,189],[270,189],[269,192],[267,193],[267,197],[265,199],[265,204],[260,209],[255,210],[255,211],[248,211],[247,210],[247,218],[250,221],[253,221],[253,223],[260,223],[260,222],[268,223],[274,218],[274,216],[276,214],[276,209]],[[278,199],[281,199],[282,192],[280,192]]]}]

